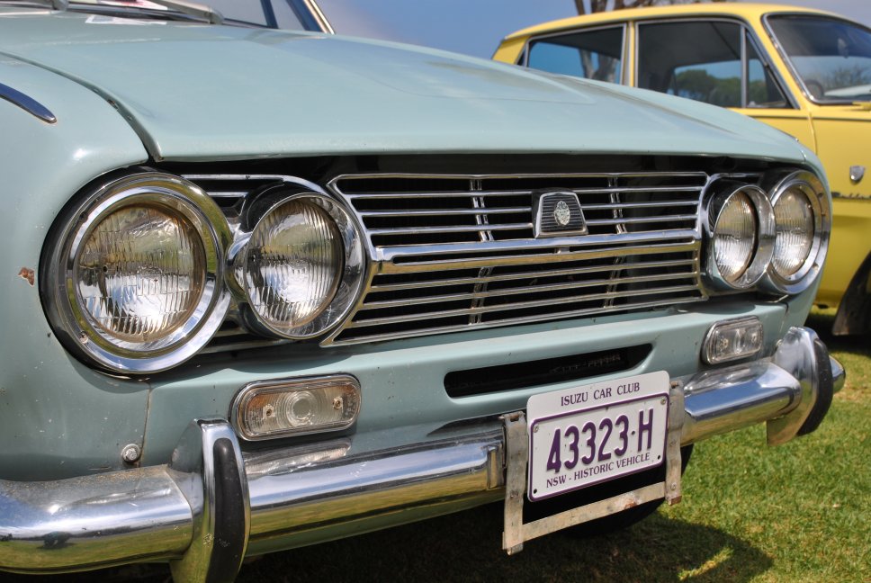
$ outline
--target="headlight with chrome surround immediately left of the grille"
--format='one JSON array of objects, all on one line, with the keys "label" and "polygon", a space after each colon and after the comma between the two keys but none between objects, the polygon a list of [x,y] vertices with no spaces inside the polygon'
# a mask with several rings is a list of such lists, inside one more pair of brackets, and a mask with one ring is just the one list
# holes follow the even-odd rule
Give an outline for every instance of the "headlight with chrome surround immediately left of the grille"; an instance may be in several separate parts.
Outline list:
[{"label": "headlight with chrome surround immediately left of the grille", "polygon": [[[287,338],[318,336],[342,318],[362,283],[363,249],[351,218],[319,193],[266,195],[234,258],[238,287],[256,323]],[[265,211],[264,211],[265,208]]]}]

